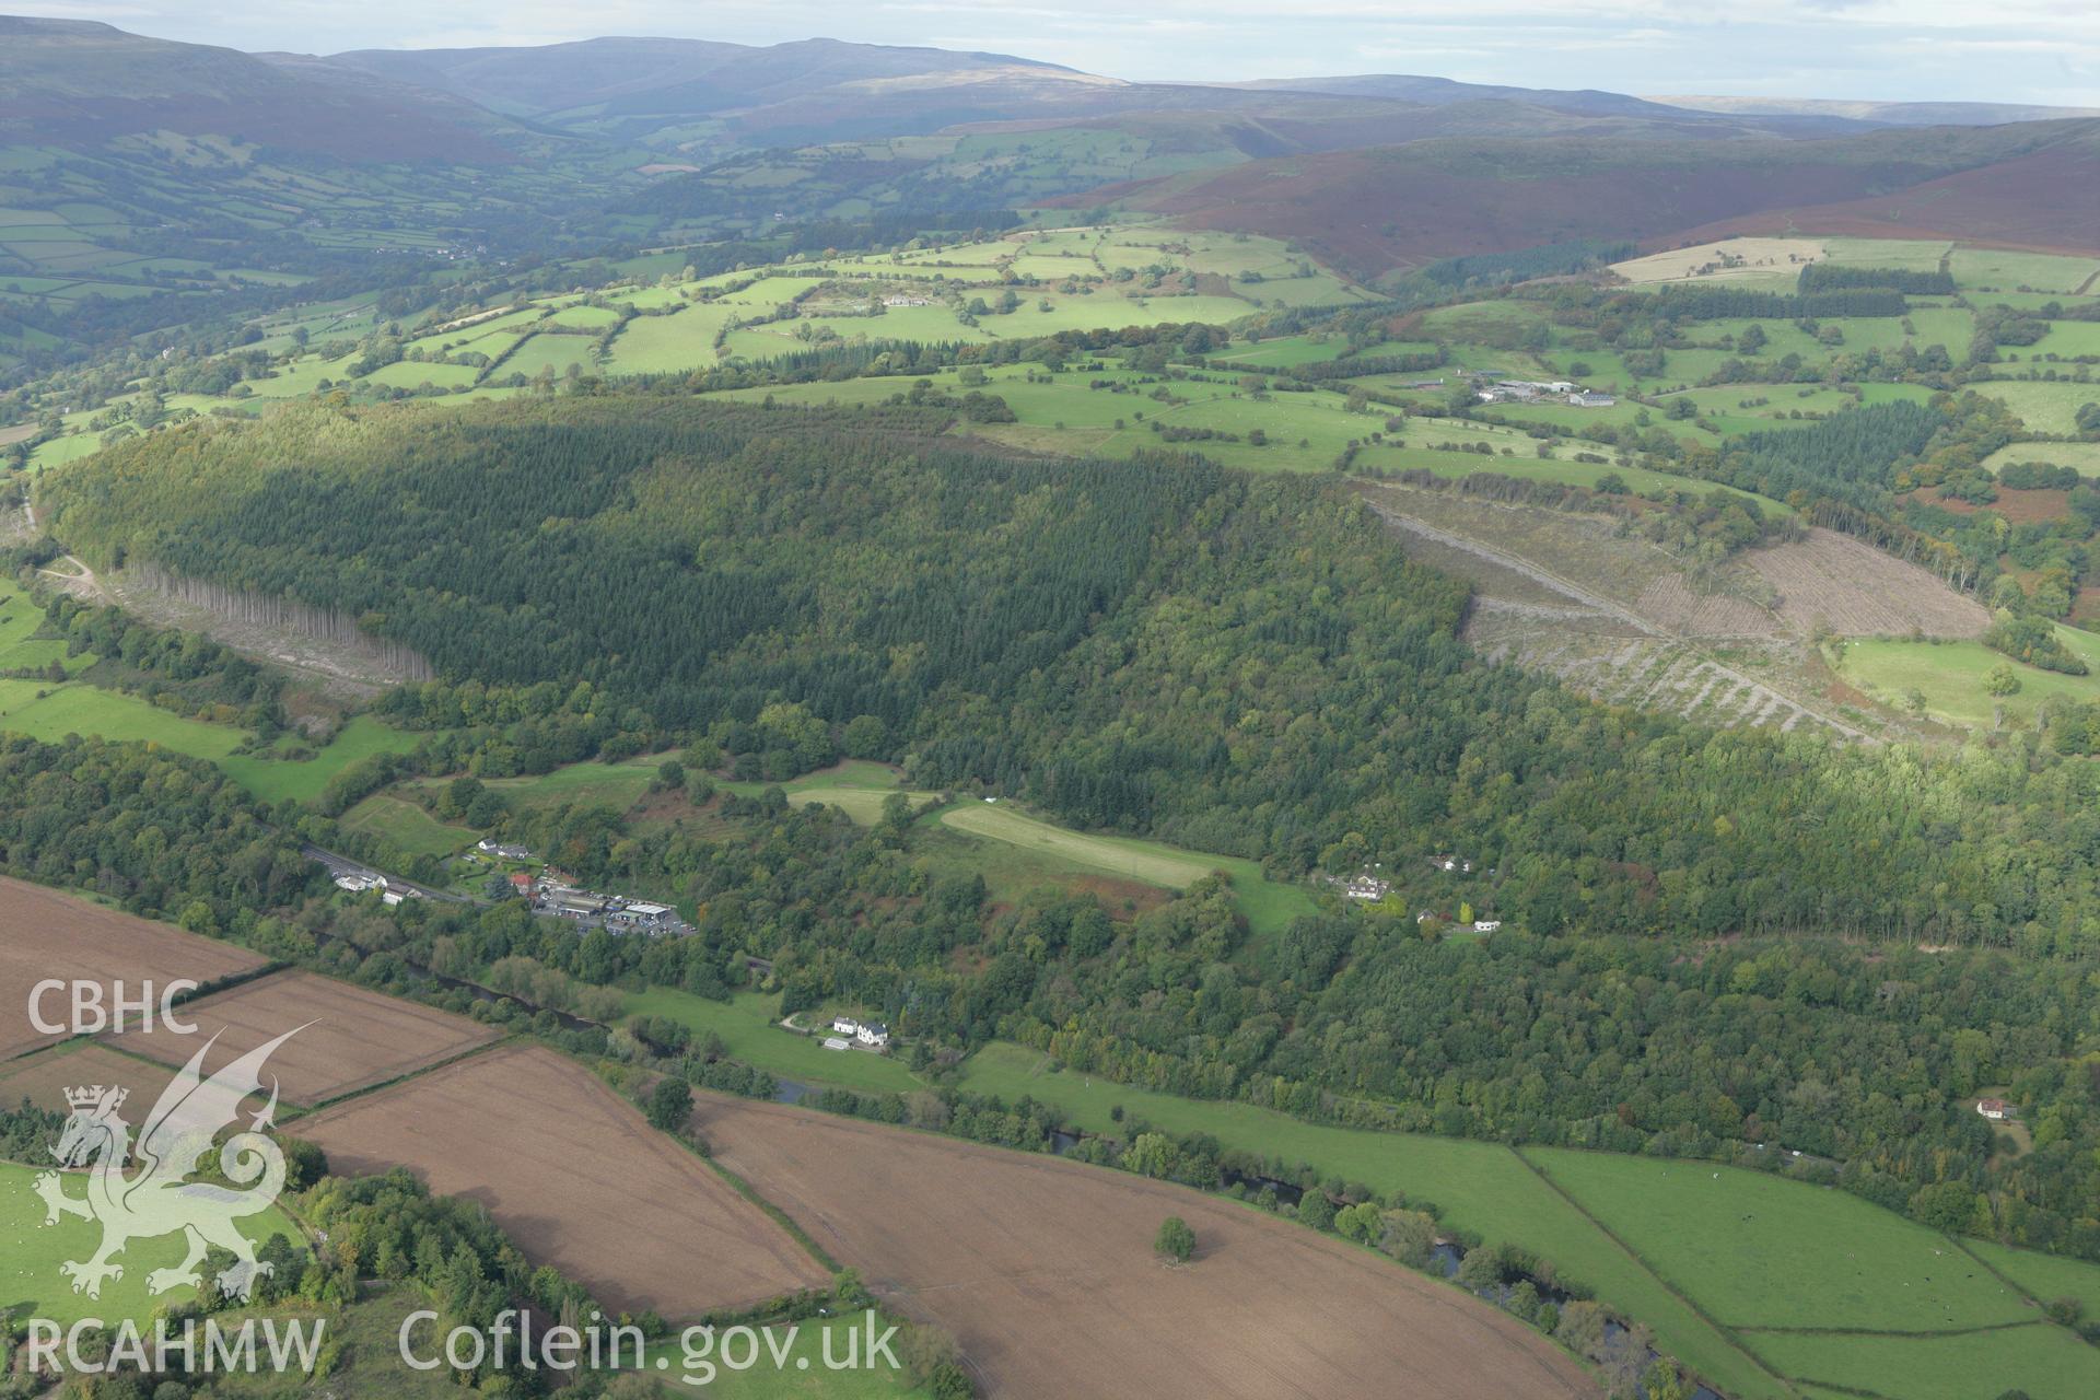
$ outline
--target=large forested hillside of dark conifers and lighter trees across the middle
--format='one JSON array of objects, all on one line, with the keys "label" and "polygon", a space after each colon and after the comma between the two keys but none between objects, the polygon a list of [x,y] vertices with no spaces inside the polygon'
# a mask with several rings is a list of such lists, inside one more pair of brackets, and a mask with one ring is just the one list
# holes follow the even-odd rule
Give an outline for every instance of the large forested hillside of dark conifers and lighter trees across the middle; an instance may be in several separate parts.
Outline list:
[{"label": "large forested hillside of dark conifers and lighter trees across the middle", "polygon": [[2094,947],[2090,764],[1604,709],[1476,661],[1464,588],[1338,485],[1010,462],[911,426],[313,407],[155,434],[44,502],[99,563],[365,617],[443,676],[388,714],[491,777],[693,735],[790,777],[850,726],[918,787],[1287,873],[1460,852],[1537,934]]}]

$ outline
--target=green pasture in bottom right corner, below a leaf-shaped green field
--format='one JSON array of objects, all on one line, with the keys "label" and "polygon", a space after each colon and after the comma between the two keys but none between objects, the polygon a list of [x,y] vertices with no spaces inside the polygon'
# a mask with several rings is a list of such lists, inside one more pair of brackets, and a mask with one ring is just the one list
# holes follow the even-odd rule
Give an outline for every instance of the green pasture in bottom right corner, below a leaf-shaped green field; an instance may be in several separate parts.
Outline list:
[{"label": "green pasture in bottom right corner, below a leaf-shaped green field", "polygon": [[1861,1337],[1758,1333],[1749,1337],[1774,1369],[1821,1381],[1831,1400],[1989,1400],[2024,1392],[2033,1400],[2100,1394],[2100,1348],[2048,1322],[1955,1337]]}]

